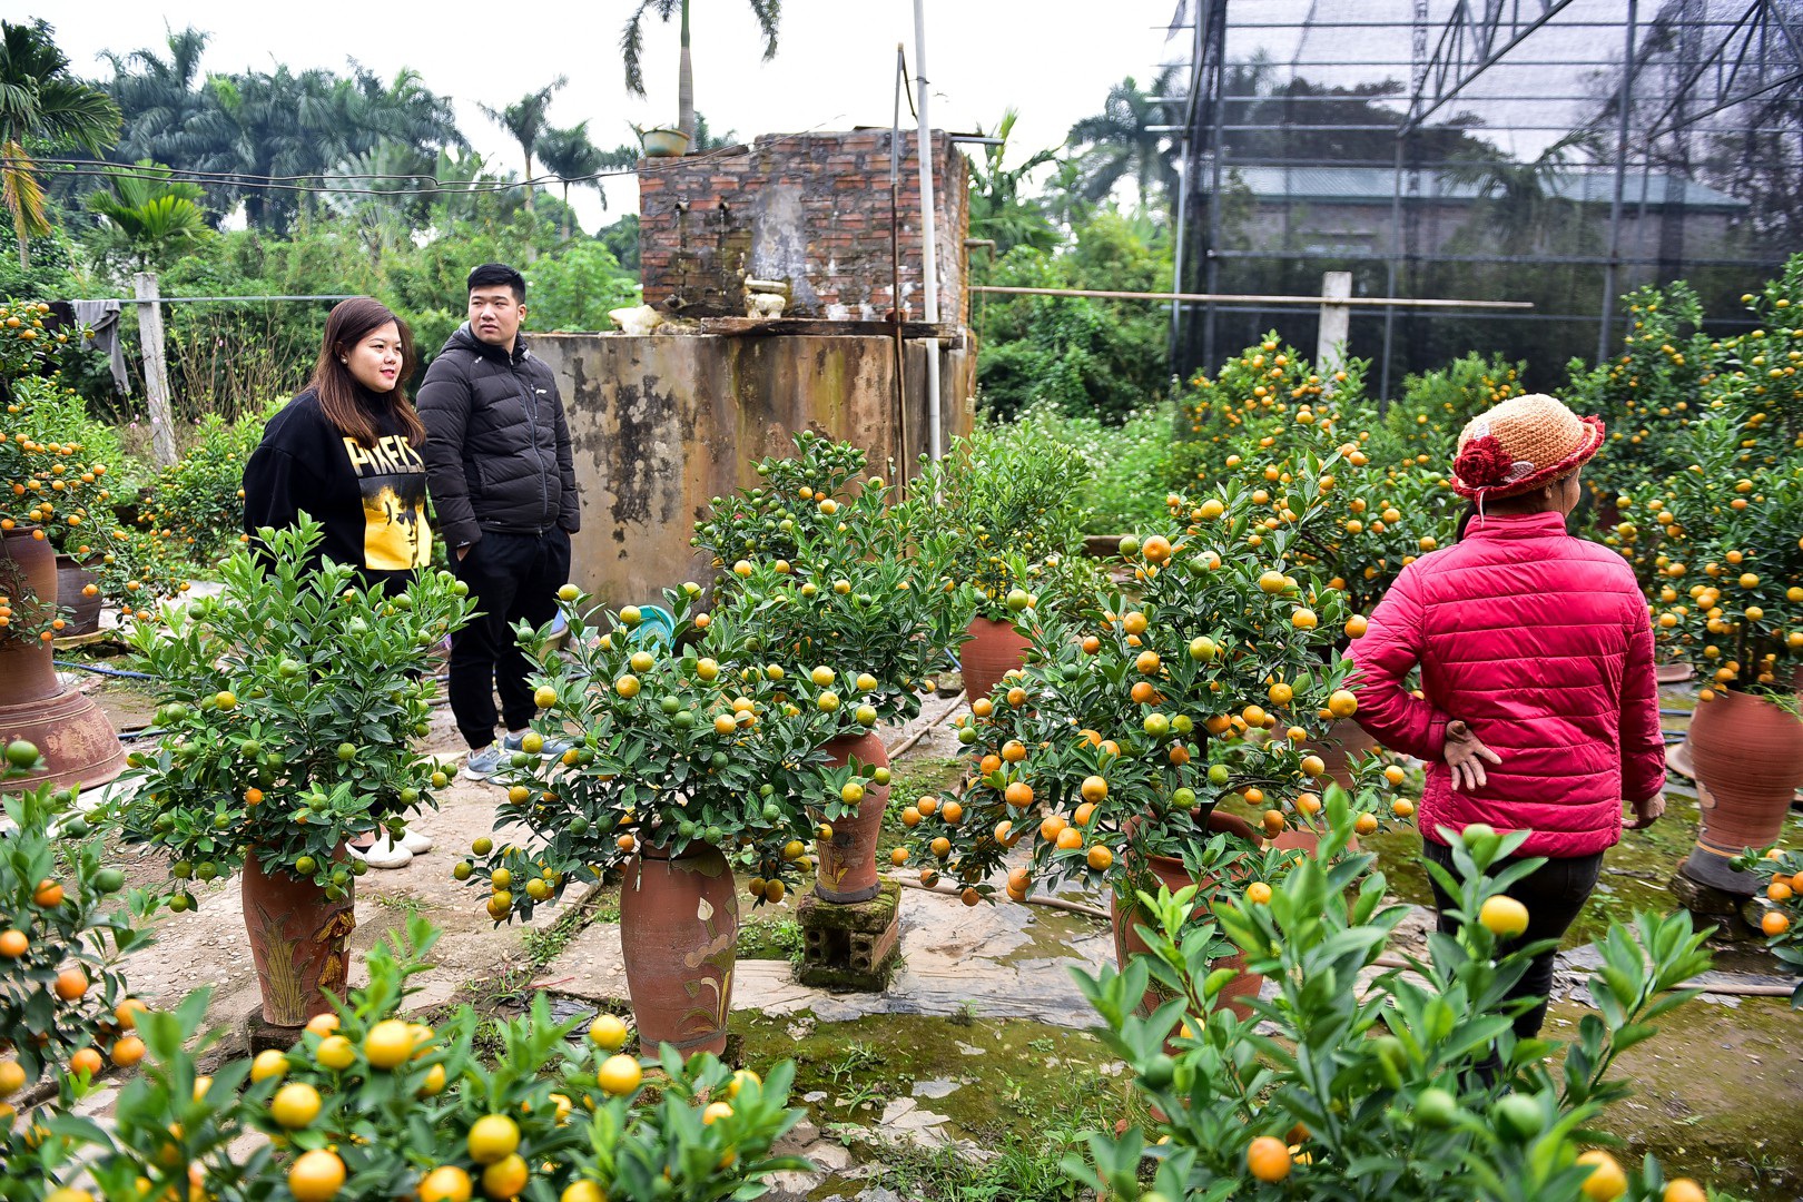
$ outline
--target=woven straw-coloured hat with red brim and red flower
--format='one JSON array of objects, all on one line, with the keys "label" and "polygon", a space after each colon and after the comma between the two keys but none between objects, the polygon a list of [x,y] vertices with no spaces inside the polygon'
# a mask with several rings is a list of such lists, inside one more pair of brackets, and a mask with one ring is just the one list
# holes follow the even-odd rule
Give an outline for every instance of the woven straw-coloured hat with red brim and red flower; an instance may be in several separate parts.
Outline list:
[{"label": "woven straw-coloured hat with red brim and red flower", "polygon": [[1601,418],[1579,418],[1543,393],[1511,396],[1459,434],[1453,490],[1475,499],[1518,497],[1572,474],[1601,445]]}]

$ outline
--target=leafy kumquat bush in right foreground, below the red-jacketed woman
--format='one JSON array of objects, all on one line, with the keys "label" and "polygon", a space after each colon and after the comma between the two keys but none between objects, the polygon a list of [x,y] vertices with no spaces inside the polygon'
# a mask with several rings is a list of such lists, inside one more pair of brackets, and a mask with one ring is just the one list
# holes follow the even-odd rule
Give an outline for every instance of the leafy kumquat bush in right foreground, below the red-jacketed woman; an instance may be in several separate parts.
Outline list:
[{"label": "leafy kumquat bush in right foreground, below the red-jacketed woman", "polygon": [[[1354,811],[1331,809],[1327,838],[1343,852]],[[1457,874],[1435,872],[1473,921],[1410,955],[1410,973],[1372,971],[1408,910],[1385,905],[1372,856],[1305,860],[1222,896],[1208,928],[1277,989],[1249,1013],[1221,1006],[1186,890],[1149,897],[1152,955],[1078,971],[1078,984],[1152,1121],[1091,1137],[1087,1155],[1066,1159],[1069,1177],[1141,1202],[1725,1197],[1597,1146],[1612,1143],[1606,1108],[1634,1092],[1617,1056],[1700,993],[1684,982],[1709,968],[1707,932],[1682,912],[1612,924],[1576,1038],[1518,1043],[1511,1020],[1531,1002],[1498,998],[1536,946],[1500,937],[1509,906],[1491,872],[1522,840],[1477,825],[1453,838]],[[1136,1015],[1149,980],[1172,1000]]]}]

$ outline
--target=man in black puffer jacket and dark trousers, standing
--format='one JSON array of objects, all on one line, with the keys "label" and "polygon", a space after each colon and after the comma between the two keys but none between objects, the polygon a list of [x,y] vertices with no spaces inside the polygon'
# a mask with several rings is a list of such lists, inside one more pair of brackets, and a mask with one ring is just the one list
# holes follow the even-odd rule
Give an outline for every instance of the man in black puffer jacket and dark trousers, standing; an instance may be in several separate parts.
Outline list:
[{"label": "man in black puffer jacket and dark trousers, standing", "polygon": [[[582,523],[570,427],[552,369],[519,324],[526,281],[505,263],[469,274],[469,323],[426,371],[426,479],[458,578],[481,611],[451,640],[451,714],[471,746],[463,775],[487,780],[537,714],[512,625],[550,622]],[[494,692],[501,692],[496,715]],[[496,717],[508,733],[496,742]],[[563,748],[546,753],[561,753]]]}]

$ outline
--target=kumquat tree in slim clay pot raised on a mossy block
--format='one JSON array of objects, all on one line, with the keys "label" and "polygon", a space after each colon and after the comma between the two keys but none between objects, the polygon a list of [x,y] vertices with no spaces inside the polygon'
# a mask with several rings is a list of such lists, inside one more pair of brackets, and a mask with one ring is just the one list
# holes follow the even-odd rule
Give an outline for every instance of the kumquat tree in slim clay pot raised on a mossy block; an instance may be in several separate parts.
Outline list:
[{"label": "kumquat tree in slim clay pot raised on a mossy block", "polygon": [[[948,539],[921,533],[916,494],[889,505],[889,487],[865,476],[864,451],[802,431],[793,458],[759,463],[761,488],[719,501],[696,532],[727,568],[719,613],[786,678],[806,676],[840,705],[826,741],[840,786],[856,804],[829,816],[815,892],[826,901],[874,897],[876,833],[889,804],[889,757],[880,723],[920,714],[918,688],[959,634],[959,586],[948,578]],[[728,559],[734,555],[734,559]]]}]

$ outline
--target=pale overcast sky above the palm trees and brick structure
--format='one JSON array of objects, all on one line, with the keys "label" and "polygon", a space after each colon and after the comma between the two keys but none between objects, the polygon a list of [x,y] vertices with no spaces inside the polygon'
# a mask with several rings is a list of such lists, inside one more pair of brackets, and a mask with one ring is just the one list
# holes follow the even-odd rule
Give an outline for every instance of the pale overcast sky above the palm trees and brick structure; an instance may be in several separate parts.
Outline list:
[{"label": "pale overcast sky above the palm trees and brick structure", "polygon": [[[74,68],[90,77],[110,74],[101,50],[166,49],[166,29],[186,25],[213,34],[206,67],[218,72],[274,63],[344,70],[352,58],[384,77],[411,67],[426,87],[456,101],[458,124],[476,150],[514,171],[523,166],[517,146],[476,105],[501,108],[555,76],[568,76],[570,85],[552,105],[552,123],[586,119],[599,146],[633,141],[629,123],[676,123],[674,23],[649,18],[647,97],[626,92],[618,41],[635,7],[636,0],[389,0],[346,9],[243,0],[0,2],[11,20],[45,16]],[[1073,121],[1102,110],[1111,83],[1123,76],[1147,83],[1156,63],[1185,58],[1181,36],[1165,41],[1176,7],[1176,0],[925,0],[932,123],[954,132],[993,128],[1011,105],[1020,110],[1017,153],[1057,146]],[[714,132],[741,139],[889,124],[898,41],[912,74],[911,0],[786,0],[777,56],[764,63],[745,0],[692,0],[696,106]],[[902,117],[912,121],[905,106]],[[606,220],[633,211],[631,180],[609,184],[608,202]],[[602,220],[593,191],[582,189],[579,213],[590,229]]]}]

